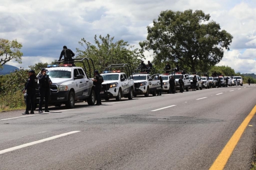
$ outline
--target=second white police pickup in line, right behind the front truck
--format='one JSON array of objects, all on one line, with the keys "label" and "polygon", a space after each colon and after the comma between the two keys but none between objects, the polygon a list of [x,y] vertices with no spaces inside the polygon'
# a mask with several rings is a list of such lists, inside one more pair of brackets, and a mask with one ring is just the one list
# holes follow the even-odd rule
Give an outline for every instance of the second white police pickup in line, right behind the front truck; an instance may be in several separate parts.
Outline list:
[{"label": "second white police pickup in line, right behind the front truck", "polygon": [[128,68],[128,70],[130,70],[130,65],[113,64],[105,68],[103,74],[100,74],[104,80],[102,83],[100,97],[105,100],[115,98],[117,101],[120,101],[121,97],[128,97],[129,100],[132,100],[135,89],[134,81],[132,79],[128,79],[126,73],[121,72],[121,70],[112,71],[113,68]]}]

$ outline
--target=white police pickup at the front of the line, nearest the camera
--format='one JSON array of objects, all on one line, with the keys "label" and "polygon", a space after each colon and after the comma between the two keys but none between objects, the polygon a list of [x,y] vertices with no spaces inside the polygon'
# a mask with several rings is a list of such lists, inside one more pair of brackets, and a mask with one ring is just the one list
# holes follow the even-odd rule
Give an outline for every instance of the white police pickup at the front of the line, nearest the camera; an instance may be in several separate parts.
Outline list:
[{"label": "white police pickup at the front of the line, nearest the camera", "polygon": [[95,104],[93,81],[82,67],[73,67],[72,64],[48,65],[47,70],[46,74],[52,81],[50,104],[60,106],[64,103],[67,108],[74,108],[76,100]]}]

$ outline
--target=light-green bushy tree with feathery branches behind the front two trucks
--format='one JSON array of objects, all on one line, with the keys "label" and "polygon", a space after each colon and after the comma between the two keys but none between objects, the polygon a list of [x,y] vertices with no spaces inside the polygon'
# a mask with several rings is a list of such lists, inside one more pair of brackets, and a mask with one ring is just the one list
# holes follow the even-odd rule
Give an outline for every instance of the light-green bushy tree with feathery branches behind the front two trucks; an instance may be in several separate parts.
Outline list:
[{"label": "light-green bushy tree with feathery branches behind the front two trucks", "polygon": [[106,37],[100,35],[99,40],[95,35],[94,43],[95,45],[82,38],[79,44],[84,50],[76,50],[78,57],[91,58],[99,71],[103,71],[110,64],[131,64],[135,68],[144,58],[139,49],[134,49],[134,46],[124,40],[114,42],[114,37],[109,34]]}]

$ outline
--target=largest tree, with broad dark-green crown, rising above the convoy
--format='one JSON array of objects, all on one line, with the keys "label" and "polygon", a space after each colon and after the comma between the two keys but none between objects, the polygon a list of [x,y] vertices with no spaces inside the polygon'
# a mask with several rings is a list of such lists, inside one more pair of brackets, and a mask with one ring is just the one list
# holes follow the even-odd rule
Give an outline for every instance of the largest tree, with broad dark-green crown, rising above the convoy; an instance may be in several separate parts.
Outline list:
[{"label": "largest tree, with broad dark-green crown, rising above the convoy", "polygon": [[221,61],[233,38],[209,19],[203,11],[162,11],[148,26],[147,40],[139,45],[153,50],[158,60],[174,61],[193,72],[208,71]]}]

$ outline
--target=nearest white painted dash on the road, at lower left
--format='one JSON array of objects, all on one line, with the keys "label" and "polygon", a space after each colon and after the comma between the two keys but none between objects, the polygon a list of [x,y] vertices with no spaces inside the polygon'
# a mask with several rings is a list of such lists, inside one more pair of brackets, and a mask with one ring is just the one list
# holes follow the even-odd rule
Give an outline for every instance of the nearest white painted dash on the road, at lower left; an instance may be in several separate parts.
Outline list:
[{"label": "nearest white painted dash on the road, at lower left", "polygon": [[14,151],[14,150],[17,150],[17,149],[28,147],[28,146],[31,146],[31,145],[34,145],[34,144],[38,144],[38,143],[41,143],[41,142],[46,142],[48,140],[60,138],[62,136],[67,136],[69,134],[74,134],[74,133],[77,133],[77,132],[80,132],[80,131],[67,132],[65,134],[60,134],[60,135],[52,136],[50,138],[45,138],[45,139],[42,139],[42,140],[37,140],[35,142],[30,142],[30,143],[22,144],[22,145],[17,146],[17,147],[12,147],[12,148],[8,148],[8,149],[4,149],[4,150],[0,151],[0,155],[3,154],[3,153],[7,153],[7,152],[10,152],[10,151]]}]

